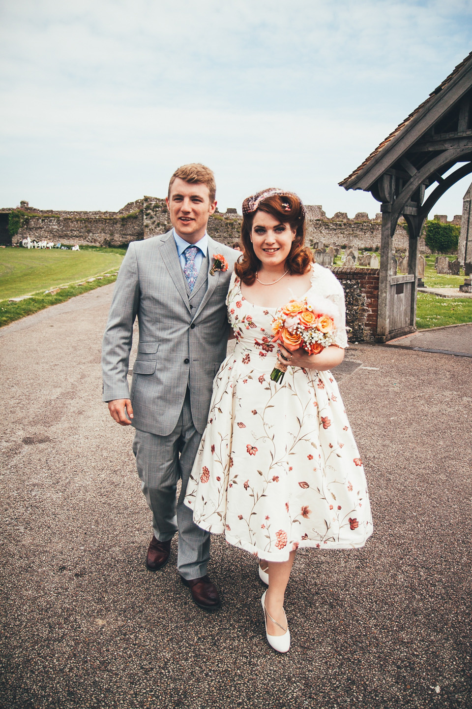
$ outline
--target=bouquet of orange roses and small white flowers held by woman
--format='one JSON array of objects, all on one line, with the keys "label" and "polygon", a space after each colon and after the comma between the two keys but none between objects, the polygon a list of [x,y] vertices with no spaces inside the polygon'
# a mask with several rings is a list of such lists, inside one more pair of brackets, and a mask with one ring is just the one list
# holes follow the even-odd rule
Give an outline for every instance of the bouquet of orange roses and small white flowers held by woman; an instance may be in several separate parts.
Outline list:
[{"label": "bouquet of orange roses and small white flowers held by woman", "polygon": [[[302,301],[289,301],[277,310],[272,332],[275,340],[280,340],[291,352],[303,347],[308,354],[318,354],[333,345],[336,316],[338,308],[328,298],[307,295]],[[270,379],[282,382],[287,367],[288,363],[277,363]]]}]

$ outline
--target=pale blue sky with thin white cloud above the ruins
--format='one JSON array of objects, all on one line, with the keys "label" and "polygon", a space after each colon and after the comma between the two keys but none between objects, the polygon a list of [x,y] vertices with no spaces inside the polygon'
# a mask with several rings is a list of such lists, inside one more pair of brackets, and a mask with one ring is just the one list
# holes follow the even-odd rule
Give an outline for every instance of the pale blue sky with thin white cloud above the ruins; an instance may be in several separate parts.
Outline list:
[{"label": "pale blue sky with thin white cloud above the ruins", "polygon": [[[0,0],[0,207],[116,211],[202,162],[220,211],[280,186],[373,217],[338,182],[471,30],[470,0]],[[434,213],[460,214],[470,179]]]}]

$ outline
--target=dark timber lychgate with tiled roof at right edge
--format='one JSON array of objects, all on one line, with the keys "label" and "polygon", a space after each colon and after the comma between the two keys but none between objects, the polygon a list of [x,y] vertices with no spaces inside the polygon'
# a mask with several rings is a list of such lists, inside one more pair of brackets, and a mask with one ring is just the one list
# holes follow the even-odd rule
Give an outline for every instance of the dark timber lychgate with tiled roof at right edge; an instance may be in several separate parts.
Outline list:
[{"label": "dark timber lychgate with tiled roof at right edge", "polygon": [[[377,338],[415,330],[418,238],[439,197],[472,172],[472,52],[426,101],[340,182],[381,202]],[[408,274],[392,273],[398,219],[408,225]]]}]

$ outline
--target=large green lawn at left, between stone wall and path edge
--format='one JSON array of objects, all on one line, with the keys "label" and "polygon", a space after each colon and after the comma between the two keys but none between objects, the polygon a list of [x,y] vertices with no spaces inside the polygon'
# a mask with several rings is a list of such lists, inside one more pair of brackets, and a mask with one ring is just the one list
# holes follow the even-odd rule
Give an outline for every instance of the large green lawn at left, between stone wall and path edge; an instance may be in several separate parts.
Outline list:
[{"label": "large green lawn at left, between stone wall and path edge", "polygon": [[0,249],[0,301],[115,272],[125,250]]}]

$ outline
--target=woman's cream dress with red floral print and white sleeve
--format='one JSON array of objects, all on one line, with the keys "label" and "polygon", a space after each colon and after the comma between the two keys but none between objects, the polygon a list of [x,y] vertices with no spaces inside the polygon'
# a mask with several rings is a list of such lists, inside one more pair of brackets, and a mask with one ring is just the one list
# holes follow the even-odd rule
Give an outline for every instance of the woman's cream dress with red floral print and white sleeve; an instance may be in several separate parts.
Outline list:
[{"label": "woman's cream dress with red floral print and white sleeve", "polygon": [[[339,281],[313,264],[311,289],[338,306],[346,347]],[[188,483],[195,523],[270,561],[298,547],[362,547],[372,534],[367,484],[333,375],[289,367],[282,384],[271,381],[276,308],[246,301],[234,274],[226,303],[237,342],[215,377]]]}]

